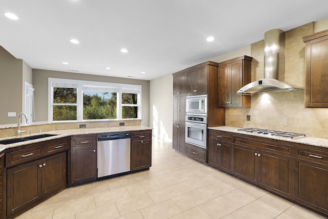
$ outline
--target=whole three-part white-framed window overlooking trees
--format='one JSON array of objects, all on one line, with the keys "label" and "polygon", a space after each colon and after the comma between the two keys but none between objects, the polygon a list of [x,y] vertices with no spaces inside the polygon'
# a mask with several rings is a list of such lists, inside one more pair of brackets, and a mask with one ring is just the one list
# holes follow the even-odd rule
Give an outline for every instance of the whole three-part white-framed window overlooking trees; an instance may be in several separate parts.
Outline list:
[{"label": "whole three-part white-framed window overlooking trees", "polygon": [[52,121],[141,119],[141,86],[49,78]]}]

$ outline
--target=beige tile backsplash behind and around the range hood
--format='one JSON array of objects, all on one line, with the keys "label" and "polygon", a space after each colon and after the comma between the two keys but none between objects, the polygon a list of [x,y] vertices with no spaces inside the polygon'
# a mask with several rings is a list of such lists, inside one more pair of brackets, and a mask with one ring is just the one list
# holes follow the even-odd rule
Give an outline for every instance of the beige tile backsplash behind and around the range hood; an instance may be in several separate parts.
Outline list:
[{"label": "beige tile backsplash behind and around the range hood", "polygon": [[[314,33],[314,24],[285,32],[284,73],[279,80],[305,87],[305,44],[302,37]],[[264,77],[264,41],[252,44],[252,81]],[[328,137],[328,109],[305,108],[304,91],[253,94],[249,109],[227,108],[226,126],[298,132]],[[247,121],[251,115],[251,121]]]}]

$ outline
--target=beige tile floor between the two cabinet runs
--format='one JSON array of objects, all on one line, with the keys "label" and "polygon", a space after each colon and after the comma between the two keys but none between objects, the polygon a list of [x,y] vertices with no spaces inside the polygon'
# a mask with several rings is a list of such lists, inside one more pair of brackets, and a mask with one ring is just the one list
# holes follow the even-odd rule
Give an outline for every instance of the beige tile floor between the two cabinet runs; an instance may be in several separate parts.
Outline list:
[{"label": "beige tile floor between the two cabinet runs", "polygon": [[150,170],[67,188],[16,218],[325,218],[153,137]]}]

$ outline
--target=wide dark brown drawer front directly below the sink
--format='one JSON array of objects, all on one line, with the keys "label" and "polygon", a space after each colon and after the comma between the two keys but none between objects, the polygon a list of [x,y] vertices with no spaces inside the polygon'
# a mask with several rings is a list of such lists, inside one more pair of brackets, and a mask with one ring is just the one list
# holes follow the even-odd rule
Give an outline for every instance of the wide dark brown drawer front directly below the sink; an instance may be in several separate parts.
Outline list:
[{"label": "wide dark brown drawer front directly below the sink", "polygon": [[6,153],[6,166],[22,164],[27,161],[35,160],[45,154],[44,146],[37,146],[23,150]]}]

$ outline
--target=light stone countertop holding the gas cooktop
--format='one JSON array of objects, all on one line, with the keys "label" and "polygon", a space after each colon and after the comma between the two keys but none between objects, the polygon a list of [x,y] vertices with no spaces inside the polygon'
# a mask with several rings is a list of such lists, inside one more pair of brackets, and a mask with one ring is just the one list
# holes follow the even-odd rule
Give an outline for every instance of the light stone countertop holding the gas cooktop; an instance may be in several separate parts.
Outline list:
[{"label": "light stone countertop holding the gas cooktop", "polygon": [[238,131],[238,129],[240,129],[240,128],[229,127],[229,126],[209,127],[208,129],[234,132],[234,133],[245,134],[245,135],[253,135],[253,136],[258,136],[258,137],[265,137],[265,138],[281,140],[281,141],[285,141],[285,142],[295,142],[295,143],[304,144],[304,145],[312,145],[312,146],[328,148],[328,139],[327,138],[306,137],[306,136],[300,137],[300,138],[289,138],[289,137],[281,137],[281,136],[275,136],[275,135],[270,135],[270,134],[258,134],[258,133],[254,133],[254,132]]}]

